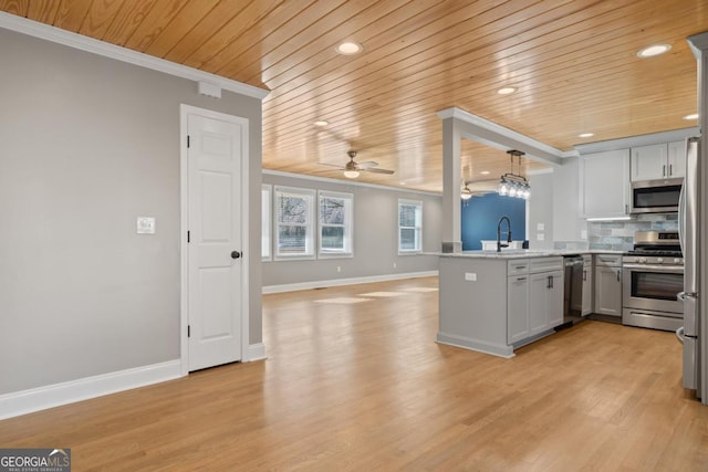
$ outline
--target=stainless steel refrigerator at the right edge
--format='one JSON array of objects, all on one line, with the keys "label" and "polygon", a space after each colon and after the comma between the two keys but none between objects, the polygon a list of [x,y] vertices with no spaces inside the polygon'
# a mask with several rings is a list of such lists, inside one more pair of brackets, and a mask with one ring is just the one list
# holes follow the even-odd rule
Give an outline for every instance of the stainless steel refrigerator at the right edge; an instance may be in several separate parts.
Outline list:
[{"label": "stainless steel refrigerator at the right edge", "polygon": [[701,391],[700,344],[706,339],[699,336],[701,323],[699,283],[700,283],[700,138],[688,138],[686,144],[686,177],[681,187],[678,211],[678,232],[684,254],[684,291],[678,298],[684,302],[684,326],[676,335],[684,345],[685,388]]}]

